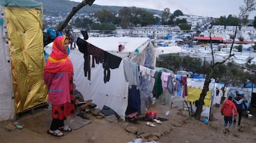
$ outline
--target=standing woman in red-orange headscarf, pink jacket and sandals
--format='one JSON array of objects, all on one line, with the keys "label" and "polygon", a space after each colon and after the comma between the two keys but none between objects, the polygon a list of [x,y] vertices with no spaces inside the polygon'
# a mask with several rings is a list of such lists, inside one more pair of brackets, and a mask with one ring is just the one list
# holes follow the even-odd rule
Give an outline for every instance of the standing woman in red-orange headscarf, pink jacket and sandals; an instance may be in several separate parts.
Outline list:
[{"label": "standing woman in red-orange headscarf, pink jacket and sandals", "polygon": [[47,131],[54,136],[63,136],[62,131],[72,131],[64,125],[67,116],[74,115],[73,65],[67,54],[69,39],[58,36],[53,41],[53,50],[48,57],[43,79],[49,88],[48,100],[52,105],[51,126]]}]

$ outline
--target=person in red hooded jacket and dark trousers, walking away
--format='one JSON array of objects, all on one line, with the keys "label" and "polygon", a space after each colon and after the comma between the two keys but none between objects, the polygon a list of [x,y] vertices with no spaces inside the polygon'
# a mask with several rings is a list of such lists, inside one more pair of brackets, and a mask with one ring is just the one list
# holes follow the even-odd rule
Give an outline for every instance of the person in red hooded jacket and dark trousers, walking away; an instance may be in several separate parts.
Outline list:
[{"label": "person in red hooded jacket and dark trousers, walking away", "polygon": [[234,110],[234,119],[236,119],[237,116],[237,110],[236,105],[233,103],[233,97],[229,96],[228,100],[224,102],[224,104],[221,107],[221,115],[224,115],[224,131],[223,133],[226,134],[226,132],[229,131],[229,127],[232,125],[233,121],[233,110]]}]

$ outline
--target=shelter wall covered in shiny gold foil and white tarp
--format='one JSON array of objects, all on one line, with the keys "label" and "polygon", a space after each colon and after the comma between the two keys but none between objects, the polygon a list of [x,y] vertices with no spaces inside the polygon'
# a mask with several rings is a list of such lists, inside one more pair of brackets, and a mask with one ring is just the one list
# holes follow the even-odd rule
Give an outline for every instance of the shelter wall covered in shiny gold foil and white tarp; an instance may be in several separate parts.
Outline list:
[{"label": "shelter wall covered in shiny gold foil and white tarp", "polygon": [[0,1],[0,121],[47,102],[41,4]]}]

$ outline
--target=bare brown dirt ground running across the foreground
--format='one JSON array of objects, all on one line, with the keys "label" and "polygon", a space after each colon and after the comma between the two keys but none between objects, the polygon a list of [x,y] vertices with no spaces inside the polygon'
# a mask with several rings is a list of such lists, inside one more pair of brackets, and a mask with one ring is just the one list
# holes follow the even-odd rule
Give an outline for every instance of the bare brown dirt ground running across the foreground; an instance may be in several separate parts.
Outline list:
[{"label": "bare brown dirt ground running across the foreground", "polygon": [[[207,125],[202,121],[190,118],[187,110],[179,108],[169,108],[164,105],[153,105],[149,110],[158,112],[161,118],[167,118],[168,121],[162,121],[161,125],[155,128],[147,126],[147,121],[139,121],[139,124],[130,123],[128,121],[119,121],[118,123],[110,123],[105,118],[98,119],[93,115],[89,115],[90,121],[88,125],[83,126],[72,133],[63,137],[53,137],[49,134],[40,133],[24,126],[23,129],[15,129],[12,125],[13,121],[0,122],[0,141],[5,143],[11,142],[132,142],[138,136],[143,136],[143,142],[156,139],[158,142],[256,142],[256,120],[242,117],[242,130],[238,131],[236,126],[231,127],[231,133],[223,134],[223,116],[220,114],[220,107],[213,108],[213,117],[215,120],[210,121]],[[29,113],[20,118],[20,120],[32,118],[32,116],[40,116],[43,110],[33,115]],[[169,112],[166,115],[166,112]],[[41,116],[45,118],[45,116]],[[48,123],[50,124],[50,123]],[[45,125],[47,128],[47,124]],[[139,131],[129,133],[126,131],[127,126],[132,126]],[[7,131],[9,129],[9,131]],[[147,138],[147,139],[145,139]]]}]

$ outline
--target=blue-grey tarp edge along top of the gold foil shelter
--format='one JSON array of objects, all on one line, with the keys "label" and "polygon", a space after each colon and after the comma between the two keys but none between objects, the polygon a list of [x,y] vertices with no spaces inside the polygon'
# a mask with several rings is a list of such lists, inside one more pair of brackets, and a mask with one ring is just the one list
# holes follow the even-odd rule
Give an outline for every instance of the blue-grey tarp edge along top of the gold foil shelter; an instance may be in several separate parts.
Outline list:
[{"label": "blue-grey tarp edge along top of the gold foil shelter", "polygon": [[34,9],[41,9],[40,2],[33,0],[1,0],[0,6],[8,7],[28,7]]}]

